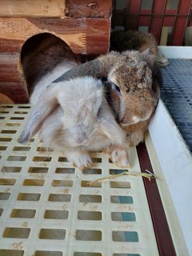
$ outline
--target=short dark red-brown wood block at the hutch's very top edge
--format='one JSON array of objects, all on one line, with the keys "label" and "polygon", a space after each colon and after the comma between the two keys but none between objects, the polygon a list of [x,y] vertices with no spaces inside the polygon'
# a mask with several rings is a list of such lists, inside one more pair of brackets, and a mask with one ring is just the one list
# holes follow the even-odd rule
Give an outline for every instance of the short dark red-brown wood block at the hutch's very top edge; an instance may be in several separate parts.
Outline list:
[{"label": "short dark red-brown wood block at the hutch's very top edge", "polygon": [[68,0],[66,9],[71,18],[110,18],[112,0]]}]

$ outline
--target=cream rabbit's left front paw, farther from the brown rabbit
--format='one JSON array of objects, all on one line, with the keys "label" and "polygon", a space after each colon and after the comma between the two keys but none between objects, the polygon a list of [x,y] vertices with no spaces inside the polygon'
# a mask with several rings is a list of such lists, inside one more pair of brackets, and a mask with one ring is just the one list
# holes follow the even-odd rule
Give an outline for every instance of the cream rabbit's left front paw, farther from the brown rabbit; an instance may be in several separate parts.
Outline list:
[{"label": "cream rabbit's left front paw, farther from the brown rabbit", "polygon": [[82,170],[86,167],[89,167],[92,163],[89,154],[72,153],[70,154],[69,160],[73,166],[78,167]]}]

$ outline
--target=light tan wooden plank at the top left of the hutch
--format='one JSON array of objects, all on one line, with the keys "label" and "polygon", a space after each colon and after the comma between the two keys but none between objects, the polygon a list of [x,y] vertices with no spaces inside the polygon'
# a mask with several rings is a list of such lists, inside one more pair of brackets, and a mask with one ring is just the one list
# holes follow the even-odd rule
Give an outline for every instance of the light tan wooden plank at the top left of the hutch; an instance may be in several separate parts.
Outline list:
[{"label": "light tan wooden plank at the top left of the hutch", "polygon": [[64,17],[65,0],[0,0],[0,17]]}]

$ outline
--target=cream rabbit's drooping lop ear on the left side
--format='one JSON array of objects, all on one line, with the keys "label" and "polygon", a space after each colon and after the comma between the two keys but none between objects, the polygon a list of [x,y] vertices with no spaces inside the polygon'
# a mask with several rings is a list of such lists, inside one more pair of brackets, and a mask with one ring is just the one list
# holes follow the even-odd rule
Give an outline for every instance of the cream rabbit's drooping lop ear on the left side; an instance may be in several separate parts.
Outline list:
[{"label": "cream rabbit's drooping lop ear on the left side", "polygon": [[42,95],[42,98],[32,107],[30,118],[28,118],[26,126],[23,128],[22,134],[18,138],[18,142],[28,142],[30,138],[38,132],[42,126],[42,122],[57,105],[58,101],[53,91],[49,91],[48,94]]}]

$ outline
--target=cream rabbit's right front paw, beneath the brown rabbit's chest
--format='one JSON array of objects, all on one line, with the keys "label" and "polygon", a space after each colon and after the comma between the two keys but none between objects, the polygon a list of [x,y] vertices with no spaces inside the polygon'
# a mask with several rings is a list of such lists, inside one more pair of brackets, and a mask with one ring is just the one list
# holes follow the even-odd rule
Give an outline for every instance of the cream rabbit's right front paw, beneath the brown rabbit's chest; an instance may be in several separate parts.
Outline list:
[{"label": "cream rabbit's right front paw, beneath the brown rabbit's chest", "polygon": [[130,167],[128,150],[123,147],[116,147],[111,152],[111,161],[119,167]]}]

